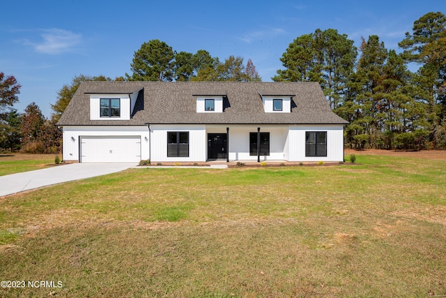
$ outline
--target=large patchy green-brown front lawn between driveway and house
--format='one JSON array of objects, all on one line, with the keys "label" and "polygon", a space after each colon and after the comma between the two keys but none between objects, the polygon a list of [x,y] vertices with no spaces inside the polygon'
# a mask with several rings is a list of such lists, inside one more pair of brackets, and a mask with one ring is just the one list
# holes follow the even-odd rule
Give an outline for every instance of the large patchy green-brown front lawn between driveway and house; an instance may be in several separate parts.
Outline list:
[{"label": "large patchy green-brown front lawn between driveway and house", "polygon": [[446,162],[130,169],[0,199],[1,297],[446,295]]}]

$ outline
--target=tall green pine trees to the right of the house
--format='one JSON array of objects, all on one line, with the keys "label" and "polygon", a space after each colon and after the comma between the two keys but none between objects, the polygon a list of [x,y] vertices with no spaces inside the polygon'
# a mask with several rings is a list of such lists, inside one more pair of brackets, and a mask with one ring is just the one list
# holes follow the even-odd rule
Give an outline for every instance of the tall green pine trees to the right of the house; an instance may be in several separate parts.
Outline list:
[{"label": "tall green pine trees to the right of the house", "polygon": [[350,121],[348,147],[446,149],[445,15],[420,17],[399,47],[387,50],[372,35],[358,49],[346,34],[317,29],[293,40],[272,80],[319,82],[332,110]]}]

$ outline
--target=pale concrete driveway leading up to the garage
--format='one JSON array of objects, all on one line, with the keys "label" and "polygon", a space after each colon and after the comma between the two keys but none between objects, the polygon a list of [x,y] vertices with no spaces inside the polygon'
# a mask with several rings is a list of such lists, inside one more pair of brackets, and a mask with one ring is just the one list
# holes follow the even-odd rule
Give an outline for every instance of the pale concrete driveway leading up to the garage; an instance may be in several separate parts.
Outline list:
[{"label": "pale concrete driveway leading up to the garage", "polygon": [[137,163],[72,163],[0,176],[0,197],[62,182],[121,172]]}]

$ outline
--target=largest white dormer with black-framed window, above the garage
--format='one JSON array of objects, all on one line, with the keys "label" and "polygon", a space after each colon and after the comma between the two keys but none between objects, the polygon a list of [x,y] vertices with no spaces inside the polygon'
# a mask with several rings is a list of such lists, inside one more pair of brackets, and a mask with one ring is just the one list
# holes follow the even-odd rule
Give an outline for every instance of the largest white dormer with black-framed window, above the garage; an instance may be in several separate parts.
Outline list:
[{"label": "largest white dormer with black-framed window, above the garage", "polygon": [[90,95],[90,120],[130,120],[139,91],[86,93]]}]

